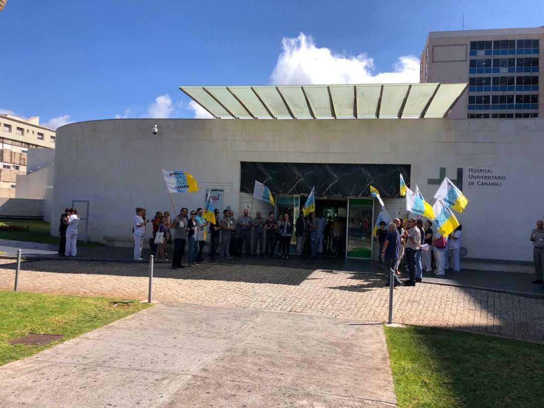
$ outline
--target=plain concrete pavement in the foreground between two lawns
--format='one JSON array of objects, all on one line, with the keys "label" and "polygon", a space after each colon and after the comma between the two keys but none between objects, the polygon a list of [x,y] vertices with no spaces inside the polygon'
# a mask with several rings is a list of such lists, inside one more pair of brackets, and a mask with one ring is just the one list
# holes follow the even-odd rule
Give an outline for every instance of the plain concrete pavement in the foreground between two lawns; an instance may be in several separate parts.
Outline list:
[{"label": "plain concrete pavement in the foreground between two lawns", "polygon": [[160,304],[0,367],[0,406],[395,405],[381,324]]}]

